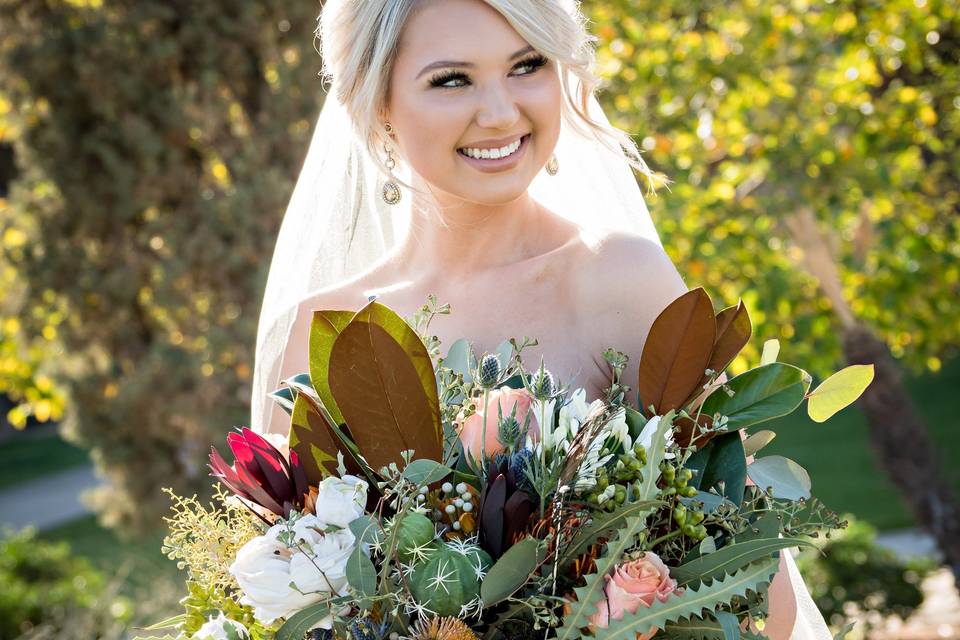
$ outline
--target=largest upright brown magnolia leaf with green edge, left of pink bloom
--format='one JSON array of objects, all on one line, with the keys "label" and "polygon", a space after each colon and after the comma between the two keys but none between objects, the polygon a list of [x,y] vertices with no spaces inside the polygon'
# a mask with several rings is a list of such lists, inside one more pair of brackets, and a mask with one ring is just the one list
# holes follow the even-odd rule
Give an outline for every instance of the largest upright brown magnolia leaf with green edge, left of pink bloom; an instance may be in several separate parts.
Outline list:
[{"label": "largest upright brown magnolia leaf with green edge, left of pink bloom", "polygon": [[331,394],[360,454],[373,469],[400,463],[400,452],[441,460],[437,384],[426,347],[389,308],[372,302],[330,350]]}]

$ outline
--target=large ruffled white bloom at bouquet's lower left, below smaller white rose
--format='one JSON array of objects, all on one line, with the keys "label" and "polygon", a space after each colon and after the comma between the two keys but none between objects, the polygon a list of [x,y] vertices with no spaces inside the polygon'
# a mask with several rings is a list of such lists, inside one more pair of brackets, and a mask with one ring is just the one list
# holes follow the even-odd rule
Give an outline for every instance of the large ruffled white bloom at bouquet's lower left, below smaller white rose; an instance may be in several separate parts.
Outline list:
[{"label": "large ruffled white bloom at bouquet's lower left, below smaller white rose", "polygon": [[[350,530],[326,533],[327,524],[319,518],[302,516],[292,527],[299,545],[288,547],[281,535],[290,528],[286,521],[273,525],[243,545],[230,565],[243,591],[241,604],[253,607],[254,617],[264,624],[288,618],[330,594],[346,593],[347,558],[356,541]],[[333,616],[328,616],[317,626],[329,629],[332,624]]]}]

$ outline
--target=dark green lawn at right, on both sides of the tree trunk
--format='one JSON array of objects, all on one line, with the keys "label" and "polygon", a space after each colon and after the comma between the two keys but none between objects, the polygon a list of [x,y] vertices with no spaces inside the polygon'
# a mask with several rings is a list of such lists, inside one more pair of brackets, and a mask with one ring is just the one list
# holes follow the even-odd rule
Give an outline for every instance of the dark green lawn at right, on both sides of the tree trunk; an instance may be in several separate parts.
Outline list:
[{"label": "dark green lawn at right, on both sides of the tree trunk", "polygon": [[[914,404],[925,418],[934,449],[954,491],[960,496],[960,415],[954,394],[960,389],[960,358],[937,374],[904,376]],[[903,498],[876,462],[867,423],[856,406],[827,422],[807,417],[806,405],[786,418],[756,429],[771,429],[777,438],[761,455],[777,454],[798,462],[810,473],[813,493],[840,513],[852,513],[878,529],[914,526]],[[752,429],[754,431],[756,429]]]}]

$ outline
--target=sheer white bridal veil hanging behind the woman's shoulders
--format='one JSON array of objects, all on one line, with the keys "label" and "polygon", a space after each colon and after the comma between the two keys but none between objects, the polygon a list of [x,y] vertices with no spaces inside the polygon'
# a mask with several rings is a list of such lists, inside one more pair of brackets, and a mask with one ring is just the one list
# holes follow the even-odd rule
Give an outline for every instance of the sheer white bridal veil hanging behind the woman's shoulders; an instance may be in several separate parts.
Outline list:
[{"label": "sheer white bridal veil hanging behind the woman's shoulders", "polygon": [[[591,116],[608,122],[595,98]],[[545,171],[530,194],[587,230],[621,230],[660,244],[633,170],[626,159],[571,123],[564,114],[555,150],[563,179]],[[397,176],[409,183],[408,170]],[[383,177],[353,135],[349,117],[331,90],[310,142],[277,239],[257,330],[250,426],[263,432],[280,386],[281,355],[298,303],[311,292],[365,271],[405,232],[410,201],[388,206]],[[784,554],[797,600],[791,640],[831,640],[796,564]]]}]

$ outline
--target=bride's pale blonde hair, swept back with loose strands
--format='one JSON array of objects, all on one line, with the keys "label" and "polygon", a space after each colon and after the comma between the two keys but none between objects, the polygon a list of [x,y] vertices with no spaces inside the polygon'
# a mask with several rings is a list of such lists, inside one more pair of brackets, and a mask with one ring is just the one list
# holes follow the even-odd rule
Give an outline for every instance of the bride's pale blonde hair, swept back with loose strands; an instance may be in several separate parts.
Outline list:
[{"label": "bride's pale blonde hair, swept back with loose strands", "polygon": [[[563,118],[583,135],[619,150],[654,190],[653,172],[633,139],[587,113],[600,84],[594,74],[594,42],[579,0],[483,0],[560,70]],[[389,100],[390,74],[407,20],[424,0],[327,0],[318,18],[321,75],[350,115],[354,131],[380,170],[384,143],[380,116]],[[669,182],[662,176],[660,182]]]}]

